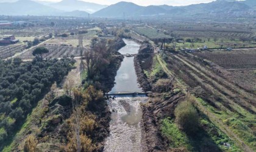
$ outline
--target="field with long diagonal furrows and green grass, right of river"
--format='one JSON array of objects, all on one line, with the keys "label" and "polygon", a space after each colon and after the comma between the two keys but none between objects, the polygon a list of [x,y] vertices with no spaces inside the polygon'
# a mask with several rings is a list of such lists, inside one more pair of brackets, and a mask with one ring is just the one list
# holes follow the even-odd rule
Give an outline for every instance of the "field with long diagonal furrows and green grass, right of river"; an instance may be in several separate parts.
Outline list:
[{"label": "field with long diagonal furrows and green grass, right of river", "polygon": [[[158,57],[158,61],[163,67],[166,66],[165,72],[176,77],[189,92],[196,95],[197,108],[235,141],[236,146],[243,150],[255,150],[255,92],[238,84],[238,81],[243,83],[245,78],[227,77],[232,72],[226,69],[219,71],[218,67],[205,64],[190,54],[166,55],[165,60]],[[255,76],[250,81],[255,84]]]}]

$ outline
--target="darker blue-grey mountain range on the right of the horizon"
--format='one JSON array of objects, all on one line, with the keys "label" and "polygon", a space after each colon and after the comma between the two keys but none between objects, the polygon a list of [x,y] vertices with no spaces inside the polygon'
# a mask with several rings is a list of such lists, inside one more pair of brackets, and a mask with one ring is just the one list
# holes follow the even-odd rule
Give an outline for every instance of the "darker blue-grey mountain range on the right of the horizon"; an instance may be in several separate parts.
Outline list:
[{"label": "darker blue-grey mountain range on the right of the horizon", "polygon": [[[123,17],[125,16],[151,16],[151,15],[199,15],[208,13],[234,13],[247,12],[254,8],[247,5],[248,3],[255,4],[256,0],[239,1],[225,1],[217,0],[210,3],[193,4],[188,6],[173,7],[169,5],[150,5],[143,7],[133,4],[131,2],[118,2],[110,5],[96,13],[93,16],[99,17]],[[256,5],[256,4],[255,4]]]}]

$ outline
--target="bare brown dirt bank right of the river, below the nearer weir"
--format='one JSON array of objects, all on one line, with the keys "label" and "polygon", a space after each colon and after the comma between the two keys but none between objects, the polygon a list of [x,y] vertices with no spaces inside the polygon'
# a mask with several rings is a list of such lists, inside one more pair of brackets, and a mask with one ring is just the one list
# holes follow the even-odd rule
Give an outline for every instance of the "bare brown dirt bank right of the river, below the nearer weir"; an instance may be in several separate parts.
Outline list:
[{"label": "bare brown dirt bank right of the river, below the nearer weir", "polygon": [[167,151],[169,148],[168,140],[162,136],[160,120],[174,116],[174,109],[177,103],[184,100],[184,94],[169,92],[168,100],[162,101],[161,94],[153,94],[150,101],[141,105],[143,111],[141,128],[143,128],[143,150],[145,151]]}]

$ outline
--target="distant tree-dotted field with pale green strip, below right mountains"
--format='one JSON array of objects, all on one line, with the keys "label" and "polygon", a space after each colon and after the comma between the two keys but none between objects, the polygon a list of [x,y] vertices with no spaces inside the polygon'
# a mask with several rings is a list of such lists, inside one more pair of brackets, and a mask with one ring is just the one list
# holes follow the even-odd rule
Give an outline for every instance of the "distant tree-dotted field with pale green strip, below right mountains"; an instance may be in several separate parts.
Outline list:
[{"label": "distant tree-dotted field with pale green strip, below right mountains", "polygon": [[152,24],[152,27],[174,37],[175,41],[168,46],[176,47],[176,50],[202,46],[211,49],[256,47],[255,27],[247,24],[168,22],[165,26]]}]

